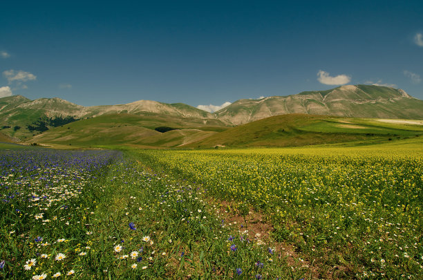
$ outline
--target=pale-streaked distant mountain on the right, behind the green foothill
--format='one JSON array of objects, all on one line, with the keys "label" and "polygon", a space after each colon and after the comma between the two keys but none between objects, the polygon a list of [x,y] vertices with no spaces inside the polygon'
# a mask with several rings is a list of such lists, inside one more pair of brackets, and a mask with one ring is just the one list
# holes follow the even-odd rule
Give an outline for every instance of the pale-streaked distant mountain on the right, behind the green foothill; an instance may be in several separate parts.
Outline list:
[{"label": "pale-streaked distant mountain on the right, behind the green foothill", "polygon": [[350,118],[423,119],[423,101],[411,97],[402,89],[348,85],[328,91],[306,91],[260,100],[238,100],[217,111],[215,115],[223,122],[238,125],[288,113]]}]

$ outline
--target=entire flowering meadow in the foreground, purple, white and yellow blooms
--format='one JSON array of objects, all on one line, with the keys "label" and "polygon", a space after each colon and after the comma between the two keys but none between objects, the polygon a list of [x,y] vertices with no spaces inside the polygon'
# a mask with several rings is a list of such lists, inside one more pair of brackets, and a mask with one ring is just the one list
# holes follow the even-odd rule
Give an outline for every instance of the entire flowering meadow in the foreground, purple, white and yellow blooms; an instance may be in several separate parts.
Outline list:
[{"label": "entire flowering meadow in the foreground, purple, white and yellow blooms", "polygon": [[423,146],[401,143],[3,150],[0,277],[419,279]]}]

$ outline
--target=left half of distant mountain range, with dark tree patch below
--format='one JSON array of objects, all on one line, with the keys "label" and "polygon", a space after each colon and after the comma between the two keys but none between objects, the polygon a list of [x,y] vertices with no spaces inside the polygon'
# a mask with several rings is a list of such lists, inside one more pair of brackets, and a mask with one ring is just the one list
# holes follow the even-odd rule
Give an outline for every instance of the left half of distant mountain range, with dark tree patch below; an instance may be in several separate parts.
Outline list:
[{"label": "left half of distant mountain range, with dark tree patch below", "polygon": [[[224,126],[223,122],[216,120],[211,113],[182,103],[167,104],[138,100],[129,104],[85,107],[59,98],[29,100],[21,95],[0,98],[0,129],[3,133],[21,140],[28,140],[39,133],[32,131],[29,127],[36,127],[35,123],[43,120],[69,117],[84,120],[113,114],[143,115],[146,118],[150,116],[153,128],[155,123],[167,121],[166,118],[169,119],[169,117],[174,118],[173,122],[177,122],[179,127],[186,125],[193,127]],[[48,126],[48,128],[51,127]]]}]

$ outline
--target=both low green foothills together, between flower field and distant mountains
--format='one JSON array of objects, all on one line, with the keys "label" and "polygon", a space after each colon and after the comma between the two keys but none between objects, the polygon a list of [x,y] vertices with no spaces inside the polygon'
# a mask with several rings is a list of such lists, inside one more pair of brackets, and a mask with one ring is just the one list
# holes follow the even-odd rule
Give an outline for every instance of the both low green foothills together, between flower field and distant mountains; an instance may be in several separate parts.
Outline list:
[{"label": "both low green foothills together, between flower field and distant mountains", "polygon": [[[156,127],[177,128],[166,133]],[[321,115],[277,115],[238,127],[208,127],[200,120],[163,115],[102,115],[50,129],[28,142],[77,147],[292,147],[339,142],[377,143],[423,134],[423,125]]]}]

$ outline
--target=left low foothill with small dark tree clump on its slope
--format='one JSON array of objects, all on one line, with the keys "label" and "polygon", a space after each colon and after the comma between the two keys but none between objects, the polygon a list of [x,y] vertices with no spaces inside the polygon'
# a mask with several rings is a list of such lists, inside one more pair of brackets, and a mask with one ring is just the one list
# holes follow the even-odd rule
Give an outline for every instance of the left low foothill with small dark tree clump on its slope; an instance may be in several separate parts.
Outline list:
[{"label": "left low foothill with small dark tree clump on its slope", "polygon": [[[173,127],[178,130],[160,133],[154,130],[156,127]],[[215,120],[204,122],[204,120],[174,118],[153,113],[113,114],[50,129],[28,142],[88,147],[110,144],[177,147],[225,129],[223,124]]]}]

